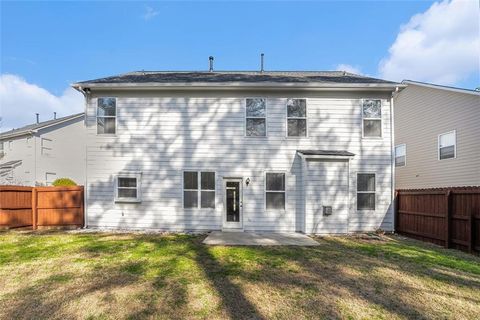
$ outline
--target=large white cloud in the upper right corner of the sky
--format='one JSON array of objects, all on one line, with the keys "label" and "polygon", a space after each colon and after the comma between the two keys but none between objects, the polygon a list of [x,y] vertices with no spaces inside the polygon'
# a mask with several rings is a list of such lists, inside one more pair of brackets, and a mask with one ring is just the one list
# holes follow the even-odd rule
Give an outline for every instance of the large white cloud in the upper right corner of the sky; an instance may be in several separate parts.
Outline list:
[{"label": "large white cloud in the upper right corner of the sky", "polygon": [[380,76],[446,85],[466,79],[480,68],[479,28],[477,1],[435,2],[401,27]]}]

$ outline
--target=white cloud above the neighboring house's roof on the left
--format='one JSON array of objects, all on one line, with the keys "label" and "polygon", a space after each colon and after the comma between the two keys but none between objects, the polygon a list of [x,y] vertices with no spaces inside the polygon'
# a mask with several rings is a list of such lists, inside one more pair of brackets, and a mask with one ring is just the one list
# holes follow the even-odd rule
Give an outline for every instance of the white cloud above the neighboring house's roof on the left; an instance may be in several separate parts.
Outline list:
[{"label": "white cloud above the neighboring house's roof on the left", "polygon": [[35,113],[40,113],[40,121],[82,112],[82,94],[67,88],[61,96],[26,82],[13,74],[0,75],[0,130],[6,131],[35,122]]}]

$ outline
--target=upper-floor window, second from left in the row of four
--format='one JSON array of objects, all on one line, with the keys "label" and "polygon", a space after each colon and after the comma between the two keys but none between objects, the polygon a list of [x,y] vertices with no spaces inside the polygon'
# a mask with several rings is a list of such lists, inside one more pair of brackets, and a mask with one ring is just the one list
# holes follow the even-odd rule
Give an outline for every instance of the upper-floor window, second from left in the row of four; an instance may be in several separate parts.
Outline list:
[{"label": "upper-floor window, second from left in the row of four", "polygon": [[267,99],[246,99],[245,134],[248,137],[265,137],[267,135]]}]

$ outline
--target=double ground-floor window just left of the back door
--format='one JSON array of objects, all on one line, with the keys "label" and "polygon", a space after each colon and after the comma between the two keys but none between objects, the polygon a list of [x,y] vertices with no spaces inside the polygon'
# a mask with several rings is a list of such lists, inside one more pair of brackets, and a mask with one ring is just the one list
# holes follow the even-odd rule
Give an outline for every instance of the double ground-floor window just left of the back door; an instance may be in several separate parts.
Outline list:
[{"label": "double ground-floor window just left of the back door", "polygon": [[215,208],[215,172],[183,172],[183,207]]}]

